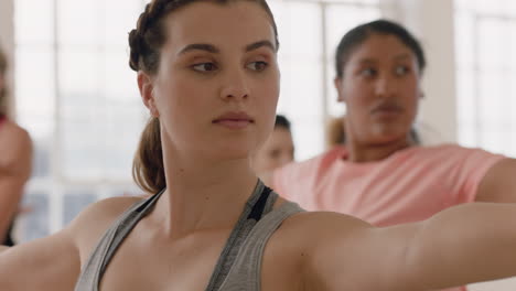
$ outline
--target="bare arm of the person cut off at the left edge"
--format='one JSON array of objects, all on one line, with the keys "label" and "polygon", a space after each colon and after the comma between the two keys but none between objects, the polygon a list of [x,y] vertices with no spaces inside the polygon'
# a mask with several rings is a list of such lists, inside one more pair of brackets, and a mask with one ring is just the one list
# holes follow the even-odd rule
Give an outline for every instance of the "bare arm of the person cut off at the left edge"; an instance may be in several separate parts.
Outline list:
[{"label": "bare arm of the person cut off at the left edge", "polygon": [[2,127],[0,142],[0,241],[7,235],[32,172],[32,141],[14,123]]}]

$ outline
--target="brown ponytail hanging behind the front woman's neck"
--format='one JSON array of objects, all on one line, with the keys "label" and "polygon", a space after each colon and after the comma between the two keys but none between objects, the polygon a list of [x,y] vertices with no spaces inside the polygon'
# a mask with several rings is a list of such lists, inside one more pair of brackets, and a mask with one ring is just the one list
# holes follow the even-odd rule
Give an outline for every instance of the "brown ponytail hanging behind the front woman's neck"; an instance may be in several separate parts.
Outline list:
[{"label": "brown ponytail hanging behind the front woman's neck", "polygon": [[160,132],[160,120],[152,117],[141,133],[132,162],[135,182],[149,193],[157,193],[166,186]]}]

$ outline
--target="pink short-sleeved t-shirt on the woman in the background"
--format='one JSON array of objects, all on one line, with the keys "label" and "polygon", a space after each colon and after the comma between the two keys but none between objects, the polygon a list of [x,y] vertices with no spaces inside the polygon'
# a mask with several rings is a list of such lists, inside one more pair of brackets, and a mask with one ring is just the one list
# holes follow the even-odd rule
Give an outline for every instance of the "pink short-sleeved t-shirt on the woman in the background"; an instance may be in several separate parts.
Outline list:
[{"label": "pink short-sleeved t-shirt on the woman in the background", "polygon": [[275,172],[272,187],[307,211],[338,212],[389,226],[473,202],[487,170],[504,159],[452,144],[412,147],[366,163],[348,162],[346,157],[346,149],[337,147],[288,164]]}]

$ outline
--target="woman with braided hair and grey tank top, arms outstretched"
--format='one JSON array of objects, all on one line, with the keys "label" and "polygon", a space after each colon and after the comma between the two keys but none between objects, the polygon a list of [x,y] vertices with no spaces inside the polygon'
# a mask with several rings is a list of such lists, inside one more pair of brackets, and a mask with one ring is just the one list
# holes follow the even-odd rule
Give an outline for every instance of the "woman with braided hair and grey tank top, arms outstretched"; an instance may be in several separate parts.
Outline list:
[{"label": "woman with braided hair and grey tank top, arms outstretched", "polygon": [[133,173],[153,195],[3,250],[0,290],[431,290],[516,274],[516,205],[375,228],[264,186],[250,157],[279,96],[264,0],[152,1],[130,46],[151,115]]}]

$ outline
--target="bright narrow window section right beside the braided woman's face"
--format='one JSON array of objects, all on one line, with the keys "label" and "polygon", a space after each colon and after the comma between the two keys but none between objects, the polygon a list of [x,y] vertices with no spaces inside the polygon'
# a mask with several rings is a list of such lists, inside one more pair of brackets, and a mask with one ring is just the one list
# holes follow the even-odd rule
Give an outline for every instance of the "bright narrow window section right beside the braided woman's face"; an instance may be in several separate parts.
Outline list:
[{"label": "bright narrow window section right beside the braided woman's face", "polygon": [[292,121],[295,158],[323,150],[322,18],[319,3],[272,2],[281,40],[281,96],[278,112]]}]

